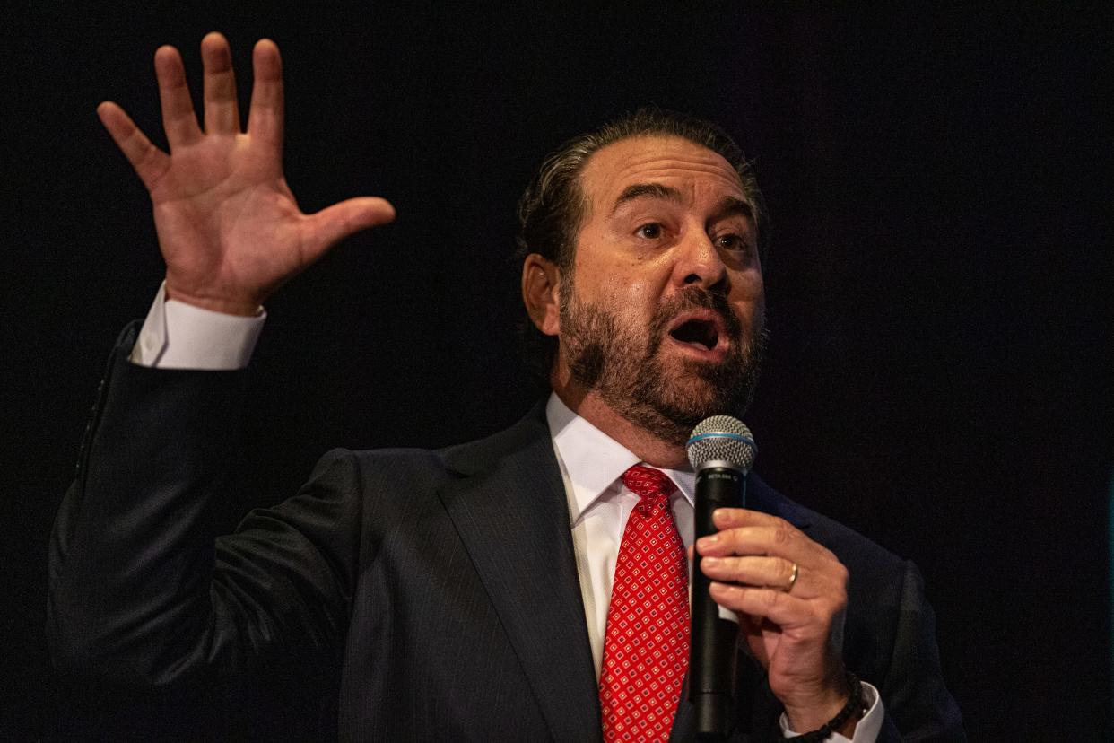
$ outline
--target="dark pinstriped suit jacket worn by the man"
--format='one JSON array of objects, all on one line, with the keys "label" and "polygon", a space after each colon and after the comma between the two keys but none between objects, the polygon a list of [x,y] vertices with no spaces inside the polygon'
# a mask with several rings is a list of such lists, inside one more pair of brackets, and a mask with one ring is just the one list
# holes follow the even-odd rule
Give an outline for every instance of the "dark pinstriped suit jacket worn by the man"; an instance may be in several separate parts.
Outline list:
[{"label": "dark pinstriped suit jacket worn by the man", "polygon": [[[439,451],[328,453],[281,506],[215,540],[242,372],[114,352],[50,551],[49,636],[75,673],[155,686],[339,675],[351,740],[600,737],[566,498],[544,410]],[[916,568],[754,478],[850,570],[843,657],[881,692],[883,740],[961,739]],[[737,740],[780,707],[743,658]],[[746,671],[746,669],[750,671]],[[674,737],[691,737],[683,702]]]}]

